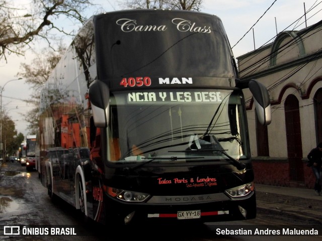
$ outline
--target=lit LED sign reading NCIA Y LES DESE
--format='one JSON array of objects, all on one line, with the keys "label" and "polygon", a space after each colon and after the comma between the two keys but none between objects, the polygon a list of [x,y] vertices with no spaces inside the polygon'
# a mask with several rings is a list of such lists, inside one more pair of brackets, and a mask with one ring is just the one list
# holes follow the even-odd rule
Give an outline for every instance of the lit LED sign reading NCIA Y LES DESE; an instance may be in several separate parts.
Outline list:
[{"label": "lit LED sign reading NCIA Y LES DESE", "polygon": [[146,91],[130,92],[127,95],[130,102],[221,102],[219,91]]}]

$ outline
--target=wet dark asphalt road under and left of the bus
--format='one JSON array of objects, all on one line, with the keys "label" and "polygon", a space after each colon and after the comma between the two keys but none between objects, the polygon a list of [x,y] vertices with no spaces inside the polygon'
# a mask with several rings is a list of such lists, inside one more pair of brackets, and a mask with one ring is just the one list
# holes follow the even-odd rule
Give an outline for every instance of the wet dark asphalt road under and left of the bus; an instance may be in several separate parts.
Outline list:
[{"label": "wet dark asphalt road under and left of the bus", "polygon": [[[274,216],[259,213],[257,218],[246,221],[222,223],[206,223],[203,225],[140,225],[126,230],[111,229],[91,221],[72,206],[61,200],[52,202],[47,189],[41,184],[37,171],[27,172],[19,163],[3,164],[0,171],[0,240],[272,240],[269,235],[241,235],[227,233],[229,230],[245,232],[254,228],[273,231],[286,225],[288,221],[276,220]],[[63,226],[61,226],[63,225]],[[68,227],[75,228],[76,236],[72,235],[4,235],[5,226]],[[295,225],[285,226],[298,228]],[[26,230],[26,229],[25,229]],[[35,229],[30,229],[35,230]],[[8,230],[6,230],[8,233]],[[20,229],[22,232],[22,229]],[[31,233],[33,234],[33,233]],[[271,233],[272,234],[272,233]],[[320,240],[321,236],[305,237],[309,240]],[[274,236],[274,240],[303,240],[303,236]]]}]

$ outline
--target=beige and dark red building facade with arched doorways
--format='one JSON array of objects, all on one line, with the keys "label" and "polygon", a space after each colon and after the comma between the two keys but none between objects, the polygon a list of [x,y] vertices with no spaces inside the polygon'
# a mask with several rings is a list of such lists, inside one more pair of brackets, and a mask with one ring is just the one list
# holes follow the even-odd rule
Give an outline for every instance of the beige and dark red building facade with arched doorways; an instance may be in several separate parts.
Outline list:
[{"label": "beige and dark red building facade with arched doorways", "polygon": [[237,64],[240,78],[265,84],[271,99],[272,123],[263,127],[245,91],[256,182],[313,188],[306,161],[322,142],[322,21],[279,33],[273,43],[238,57]]}]

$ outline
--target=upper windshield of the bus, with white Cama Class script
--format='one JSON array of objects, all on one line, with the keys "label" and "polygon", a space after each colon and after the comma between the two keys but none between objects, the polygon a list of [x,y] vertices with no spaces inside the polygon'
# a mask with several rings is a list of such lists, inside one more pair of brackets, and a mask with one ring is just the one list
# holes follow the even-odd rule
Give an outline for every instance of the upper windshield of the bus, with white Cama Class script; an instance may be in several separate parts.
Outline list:
[{"label": "upper windshield of the bus, with white Cama Class script", "polygon": [[[219,18],[171,11],[138,16],[117,12],[97,19],[100,80],[126,76],[234,77]],[[197,54],[198,53],[198,54]],[[111,82],[118,84],[119,81]]]}]

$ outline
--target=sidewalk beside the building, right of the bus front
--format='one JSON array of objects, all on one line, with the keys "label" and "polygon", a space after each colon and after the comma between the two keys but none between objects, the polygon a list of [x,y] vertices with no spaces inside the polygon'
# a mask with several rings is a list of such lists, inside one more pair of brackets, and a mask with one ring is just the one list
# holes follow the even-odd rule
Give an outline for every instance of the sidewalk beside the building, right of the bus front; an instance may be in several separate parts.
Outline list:
[{"label": "sidewalk beside the building, right of the bus front", "polygon": [[293,219],[301,224],[322,224],[322,196],[313,189],[255,184],[257,210],[276,219]]}]

